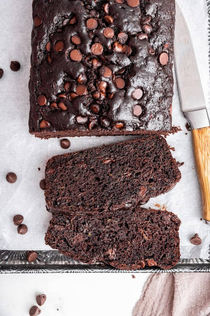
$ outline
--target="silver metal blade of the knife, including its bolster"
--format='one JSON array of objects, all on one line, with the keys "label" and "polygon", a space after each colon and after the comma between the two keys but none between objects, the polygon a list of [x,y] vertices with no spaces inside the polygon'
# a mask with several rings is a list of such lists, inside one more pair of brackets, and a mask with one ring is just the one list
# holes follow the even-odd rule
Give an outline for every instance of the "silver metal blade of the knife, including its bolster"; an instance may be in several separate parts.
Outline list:
[{"label": "silver metal blade of the knife, including its bolster", "polygon": [[182,112],[184,117],[189,120],[192,129],[209,126],[190,31],[177,3],[174,33],[174,60]]}]

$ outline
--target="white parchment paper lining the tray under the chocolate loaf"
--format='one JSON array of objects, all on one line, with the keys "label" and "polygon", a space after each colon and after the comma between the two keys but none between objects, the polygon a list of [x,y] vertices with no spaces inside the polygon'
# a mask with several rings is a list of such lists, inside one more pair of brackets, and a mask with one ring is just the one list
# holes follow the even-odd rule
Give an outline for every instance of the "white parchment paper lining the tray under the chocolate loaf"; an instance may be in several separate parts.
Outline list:
[{"label": "white parchment paper lining the tray under the chocolate loaf", "polygon": [[[208,64],[208,23],[205,0],[179,0],[188,23],[203,90],[209,104],[209,64]],[[31,54],[32,0],[0,0],[0,68],[4,75],[0,79],[0,249],[46,250],[44,234],[51,214],[46,211],[44,191],[39,182],[44,178],[47,160],[53,155],[77,151],[113,143],[135,137],[75,137],[71,138],[70,149],[60,147],[58,139],[41,140],[28,133],[29,115],[29,70]],[[11,60],[17,60],[21,68],[10,70]],[[167,210],[181,219],[180,251],[182,258],[205,258],[209,254],[210,231],[202,218],[201,191],[197,179],[193,156],[191,132],[185,128],[179,93],[174,71],[173,125],[182,131],[167,137],[170,146],[175,147],[172,155],[177,161],[184,161],[180,167],[181,181],[171,192],[151,199],[146,206],[164,204]],[[187,133],[187,135],[186,135]],[[40,171],[38,170],[40,168]],[[9,184],[6,174],[15,172],[17,181]],[[13,216],[22,214],[28,233],[17,234]],[[200,246],[190,244],[190,237],[198,233],[202,239]]]}]

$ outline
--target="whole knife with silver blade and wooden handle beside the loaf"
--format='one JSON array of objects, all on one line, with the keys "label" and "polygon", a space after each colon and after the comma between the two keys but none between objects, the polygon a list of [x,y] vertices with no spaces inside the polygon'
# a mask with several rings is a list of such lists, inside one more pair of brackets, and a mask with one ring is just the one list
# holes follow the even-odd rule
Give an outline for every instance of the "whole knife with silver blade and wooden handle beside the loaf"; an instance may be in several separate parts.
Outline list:
[{"label": "whole knife with silver blade and wooden handle beside the loaf", "polygon": [[190,32],[177,3],[174,60],[181,109],[192,130],[203,201],[203,219],[210,225],[210,122]]}]

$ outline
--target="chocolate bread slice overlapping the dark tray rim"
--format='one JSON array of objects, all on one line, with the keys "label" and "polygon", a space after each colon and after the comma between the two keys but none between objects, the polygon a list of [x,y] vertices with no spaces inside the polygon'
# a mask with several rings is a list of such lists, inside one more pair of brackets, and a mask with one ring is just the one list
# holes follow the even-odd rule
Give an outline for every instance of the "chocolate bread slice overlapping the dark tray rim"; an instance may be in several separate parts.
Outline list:
[{"label": "chocolate bread slice overlapping the dark tray rim", "polygon": [[97,216],[53,215],[45,242],[63,254],[117,269],[147,264],[170,269],[178,263],[179,218],[167,211],[131,207]]}]

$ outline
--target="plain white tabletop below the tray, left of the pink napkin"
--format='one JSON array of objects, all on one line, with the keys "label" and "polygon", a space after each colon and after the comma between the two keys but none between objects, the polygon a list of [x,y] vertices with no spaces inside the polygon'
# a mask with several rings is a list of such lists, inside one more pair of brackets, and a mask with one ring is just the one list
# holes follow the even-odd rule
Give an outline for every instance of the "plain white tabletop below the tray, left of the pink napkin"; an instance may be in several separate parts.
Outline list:
[{"label": "plain white tabletop below the tray, left of the pink napkin", "polygon": [[1,274],[0,315],[28,316],[36,295],[45,294],[41,316],[131,316],[150,273],[134,275]]}]

